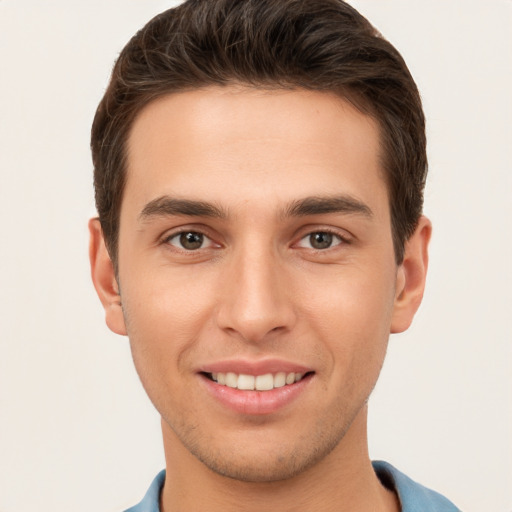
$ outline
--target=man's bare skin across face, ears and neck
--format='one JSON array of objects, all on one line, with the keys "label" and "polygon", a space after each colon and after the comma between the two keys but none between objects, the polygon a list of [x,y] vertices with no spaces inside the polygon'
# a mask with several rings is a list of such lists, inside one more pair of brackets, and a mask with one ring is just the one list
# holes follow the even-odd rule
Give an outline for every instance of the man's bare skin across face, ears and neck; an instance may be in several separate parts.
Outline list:
[{"label": "man's bare skin across face, ears and neck", "polygon": [[[176,199],[214,215],[176,213]],[[371,467],[366,404],[390,332],[421,302],[431,226],[420,219],[397,266],[371,118],[302,90],[156,100],[129,138],[118,279],[96,219],[90,231],[107,324],[162,417],[162,510],[399,509]],[[311,370],[285,407],[241,414],[205,391],[205,365],[268,358]]]}]

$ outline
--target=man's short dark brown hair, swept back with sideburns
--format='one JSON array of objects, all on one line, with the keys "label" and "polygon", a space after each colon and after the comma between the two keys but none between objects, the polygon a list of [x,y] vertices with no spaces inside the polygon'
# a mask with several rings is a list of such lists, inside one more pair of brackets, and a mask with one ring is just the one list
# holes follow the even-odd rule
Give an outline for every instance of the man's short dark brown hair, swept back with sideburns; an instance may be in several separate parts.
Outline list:
[{"label": "man's short dark brown hair, swept back with sideburns", "polygon": [[379,124],[397,263],[423,207],[420,96],[398,51],[342,0],[188,0],[122,50],[92,126],[96,206],[117,267],[126,145],[141,109],[209,85],[330,91]]}]

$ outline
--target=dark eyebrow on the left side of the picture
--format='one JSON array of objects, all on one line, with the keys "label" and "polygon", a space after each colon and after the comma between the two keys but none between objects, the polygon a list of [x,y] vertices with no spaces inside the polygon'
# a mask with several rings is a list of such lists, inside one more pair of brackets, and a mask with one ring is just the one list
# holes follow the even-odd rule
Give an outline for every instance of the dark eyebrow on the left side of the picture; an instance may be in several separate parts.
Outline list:
[{"label": "dark eyebrow on the left side of the picture", "polygon": [[177,199],[170,196],[161,196],[147,203],[139,214],[140,220],[149,220],[151,217],[165,217],[171,215],[186,215],[190,217],[210,217],[224,219],[227,217],[221,208],[205,201],[191,199]]}]

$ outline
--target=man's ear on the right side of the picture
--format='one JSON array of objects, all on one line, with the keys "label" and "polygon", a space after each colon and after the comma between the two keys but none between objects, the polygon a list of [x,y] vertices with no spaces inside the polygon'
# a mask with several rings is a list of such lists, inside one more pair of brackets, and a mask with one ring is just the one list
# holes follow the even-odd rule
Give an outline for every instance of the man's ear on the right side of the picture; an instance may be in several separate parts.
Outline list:
[{"label": "man's ear on the right side of the picture", "polygon": [[432,224],[420,217],[418,226],[405,243],[405,254],[398,267],[391,333],[403,332],[411,325],[421,304],[428,267],[428,243]]}]

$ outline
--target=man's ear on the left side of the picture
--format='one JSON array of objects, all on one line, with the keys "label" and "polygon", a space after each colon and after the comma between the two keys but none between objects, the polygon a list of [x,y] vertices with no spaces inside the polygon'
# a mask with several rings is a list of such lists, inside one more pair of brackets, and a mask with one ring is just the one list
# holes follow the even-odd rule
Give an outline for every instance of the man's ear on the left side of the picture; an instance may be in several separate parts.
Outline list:
[{"label": "man's ear on the left side of the picture", "polygon": [[107,326],[116,334],[126,335],[119,286],[99,219],[95,218],[89,221],[89,235],[91,277],[96,293],[105,309]]}]

